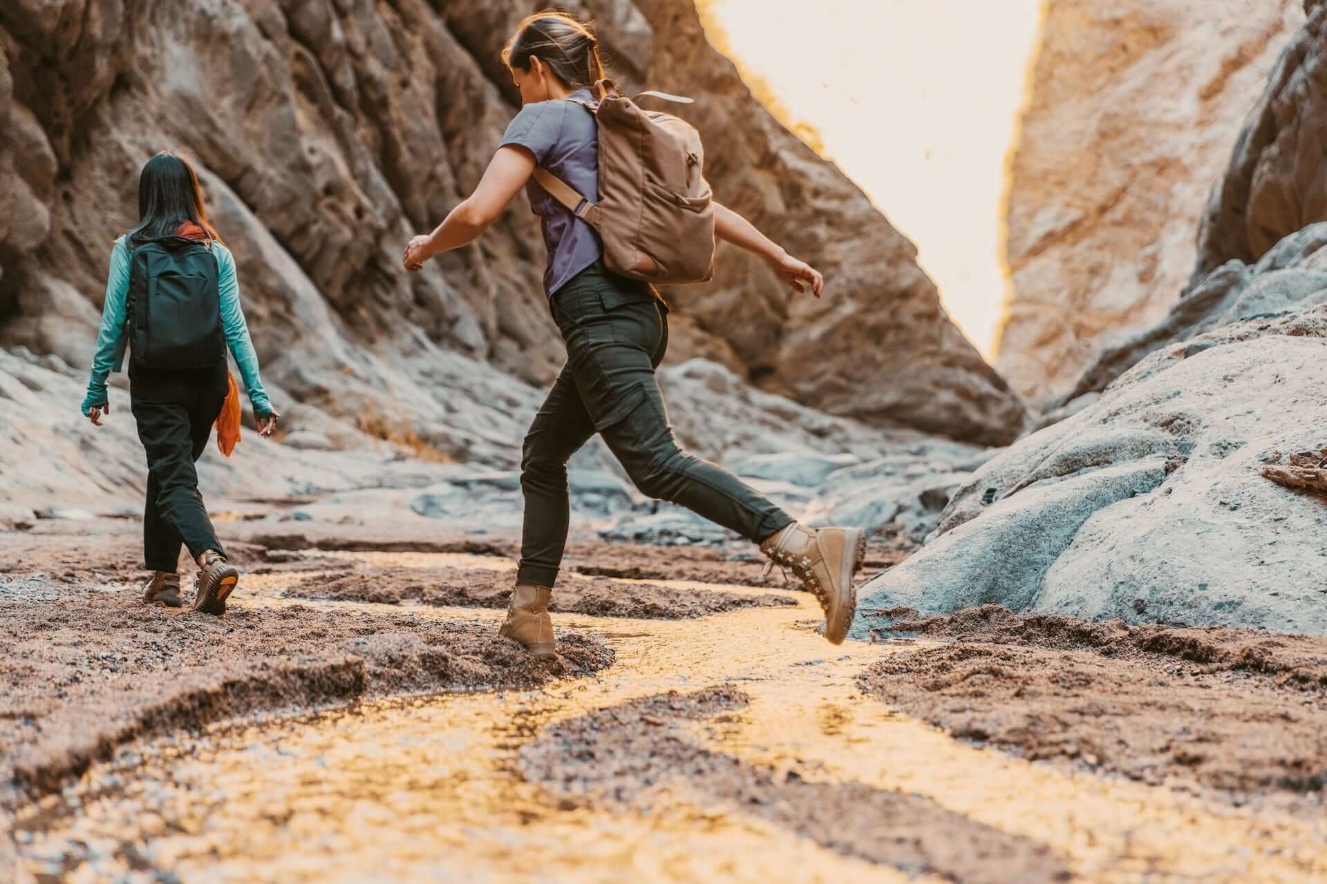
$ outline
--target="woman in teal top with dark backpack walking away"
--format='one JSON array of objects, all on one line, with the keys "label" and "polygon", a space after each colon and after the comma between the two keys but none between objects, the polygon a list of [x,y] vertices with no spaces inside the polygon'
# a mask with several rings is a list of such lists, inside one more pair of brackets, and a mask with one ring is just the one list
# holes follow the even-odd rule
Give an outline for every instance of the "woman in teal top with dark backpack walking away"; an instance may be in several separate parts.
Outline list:
[{"label": "woman in teal top with dark backpack walking away", "polygon": [[194,168],[163,151],[138,179],[138,227],[110,250],[106,301],[82,414],[97,427],[110,414],[106,375],[126,346],[129,398],[147,453],[143,557],[153,578],[143,602],[180,607],[179,550],[198,562],[194,610],[220,615],[239,571],[226,559],[198,492],[202,456],[230,387],[226,347],[248,390],[259,435],[280,415],[259,379],[240,310],[235,258],[207,220]]}]

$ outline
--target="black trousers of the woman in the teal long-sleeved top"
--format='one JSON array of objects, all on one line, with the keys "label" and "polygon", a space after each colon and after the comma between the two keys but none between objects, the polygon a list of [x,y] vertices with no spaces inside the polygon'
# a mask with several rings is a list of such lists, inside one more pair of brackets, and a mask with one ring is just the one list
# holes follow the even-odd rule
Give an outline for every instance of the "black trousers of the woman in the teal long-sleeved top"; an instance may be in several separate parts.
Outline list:
[{"label": "black trousers of the woman in the teal long-sleeved top", "polygon": [[153,371],[130,363],[130,407],[147,453],[143,562],[150,571],[175,571],[180,543],[194,558],[206,550],[226,551],[198,493],[194,461],[212,435],[227,386],[224,362],[190,371]]}]

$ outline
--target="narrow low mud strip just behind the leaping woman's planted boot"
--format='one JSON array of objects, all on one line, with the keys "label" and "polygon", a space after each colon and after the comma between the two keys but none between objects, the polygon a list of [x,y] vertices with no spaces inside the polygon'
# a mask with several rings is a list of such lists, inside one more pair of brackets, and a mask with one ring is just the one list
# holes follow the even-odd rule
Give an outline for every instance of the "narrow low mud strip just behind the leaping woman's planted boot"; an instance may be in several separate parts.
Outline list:
[{"label": "narrow low mud strip just behind the leaping woman's planted boot", "polygon": [[[285,590],[285,598],[504,608],[514,575],[466,567],[361,567],[313,577]],[[750,607],[790,607],[788,595],[697,592],[654,583],[568,577],[553,590],[549,611],[633,619],[686,619]]]}]

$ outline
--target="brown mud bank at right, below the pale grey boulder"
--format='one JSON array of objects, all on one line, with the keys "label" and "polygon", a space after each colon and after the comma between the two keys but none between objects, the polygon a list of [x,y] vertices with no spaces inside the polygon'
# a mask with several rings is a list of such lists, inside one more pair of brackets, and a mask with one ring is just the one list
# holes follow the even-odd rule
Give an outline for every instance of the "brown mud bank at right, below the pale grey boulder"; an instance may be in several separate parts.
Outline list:
[{"label": "brown mud bank at right, below the pale grey boulder", "polygon": [[1014,615],[882,612],[942,641],[859,684],[901,713],[1028,759],[1148,785],[1327,803],[1327,639]]}]

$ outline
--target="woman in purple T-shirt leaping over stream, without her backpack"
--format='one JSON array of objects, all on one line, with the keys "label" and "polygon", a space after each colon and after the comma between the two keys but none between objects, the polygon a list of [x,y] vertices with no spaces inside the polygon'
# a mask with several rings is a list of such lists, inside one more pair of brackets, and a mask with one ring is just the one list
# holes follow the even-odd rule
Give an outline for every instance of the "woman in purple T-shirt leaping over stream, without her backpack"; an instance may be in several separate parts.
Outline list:
[{"label": "woman in purple T-shirt leaping over stream, without her backpack", "polygon": [[[433,233],[414,237],[403,258],[406,269],[418,270],[439,252],[472,243],[523,187],[541,220],[544,289],[568,359],[525,436],[520,567],[502,635],[535,656],[553,653],[548,600],[567,542],[567,461],[598,432],[641,492],[736,531],[759,543],[771,563],[791,567],[825,611],[825,637],[843,641],[856,606],[852,578],[861,566],[864,533],[799,525],[722,467],[678,448],[654,378],[667,349],[667,306],[649,282],[612,272],[601,237],[569,208],[577,197],[588,205],[600,195],[591,89],[604,80],[604,66],[593,32],[565,13],[536,13],[519,25],[503,60],[523,109],[474,193]],[[698,164],[698,152],[682,163]],[[536,178],[565,188],[561,199]],[[707,195],[703,203],[707,208]],[[759,254],[795,289],[809,286],[820,297],[823,281],[813,268],[735,212],[718,203],[713,212],[714,236]]]}]

